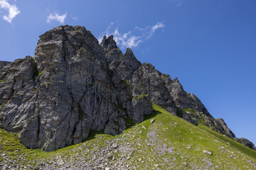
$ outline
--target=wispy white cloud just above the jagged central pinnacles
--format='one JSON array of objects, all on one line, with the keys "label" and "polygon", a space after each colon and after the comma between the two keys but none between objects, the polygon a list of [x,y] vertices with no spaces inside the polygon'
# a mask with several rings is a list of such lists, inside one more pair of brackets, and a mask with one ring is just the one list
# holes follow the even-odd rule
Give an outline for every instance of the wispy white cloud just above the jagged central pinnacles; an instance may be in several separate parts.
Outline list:
[{"label": "wispy white cloud just above the jagged central pinnacles", "polygon": [[135,27],[127,33],[120,33],[116,23],[110,23],[102,36],[98,37],[99,42],[102,40],[103,35],[114,35],[114,40],[121,48],[137,47],[140,43],[151,38],[156,30],[164,28],[164,23],[156,23],[154,26],[146,26],[144,28]]}]

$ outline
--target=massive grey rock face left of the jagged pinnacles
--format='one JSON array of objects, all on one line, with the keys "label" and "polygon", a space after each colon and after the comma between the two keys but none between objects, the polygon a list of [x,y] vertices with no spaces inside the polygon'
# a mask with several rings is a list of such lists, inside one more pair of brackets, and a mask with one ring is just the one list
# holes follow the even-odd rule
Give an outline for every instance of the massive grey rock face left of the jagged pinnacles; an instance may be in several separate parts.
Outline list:
[{"label": "massive grey rock face left of the jagged pinnacles", "polygon": [[41,35],[34,58],[1,70],[0,128],[18,132],[26,147],[52,151],[82,142],[90,130],[116,135],[128,117],[144,120],[151,101],[132,98],[129,85],[112,81],[106,55],[80,26]]}]

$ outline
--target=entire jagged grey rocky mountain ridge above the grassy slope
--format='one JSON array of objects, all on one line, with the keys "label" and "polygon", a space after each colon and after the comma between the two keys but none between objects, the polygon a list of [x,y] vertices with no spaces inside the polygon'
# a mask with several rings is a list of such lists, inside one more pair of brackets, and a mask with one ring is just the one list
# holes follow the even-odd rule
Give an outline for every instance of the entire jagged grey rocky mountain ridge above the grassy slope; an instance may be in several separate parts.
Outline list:
[{"label": "entire jagged grey rocky mountain ridge above the grassy slope", "polygon": [[123,54],[113,36],[102,42],[81,26],[59,26],[40,36],[35,56],[0,70],[0,128],[28,148],[53,151],[85,141],[93,130],[122,133],[142,123],[152,102],[172,115],[235,138],[194,94],[184,91],[131,49]]}]

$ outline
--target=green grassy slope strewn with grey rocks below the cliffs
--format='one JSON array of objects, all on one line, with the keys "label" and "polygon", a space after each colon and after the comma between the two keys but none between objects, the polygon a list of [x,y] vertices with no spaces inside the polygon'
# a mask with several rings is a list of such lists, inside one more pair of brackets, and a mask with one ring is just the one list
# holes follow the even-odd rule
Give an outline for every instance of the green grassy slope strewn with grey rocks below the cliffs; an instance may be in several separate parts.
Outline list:
[{"label": "green grassy slope strewn with grey rocks below the cliffs", "polygon": [[26,149],[0,130],[0,152],[0,169],[256,169],[252,149],[156,105],[122,134],[92,132],[87,141],[55,152]]}]

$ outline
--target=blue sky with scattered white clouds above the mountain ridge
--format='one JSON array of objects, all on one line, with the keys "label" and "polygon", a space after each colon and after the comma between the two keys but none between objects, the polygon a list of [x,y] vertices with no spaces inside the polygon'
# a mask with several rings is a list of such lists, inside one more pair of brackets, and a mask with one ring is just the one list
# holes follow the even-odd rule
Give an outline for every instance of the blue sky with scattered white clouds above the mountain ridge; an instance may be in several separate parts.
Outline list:
[{"label": "blue sky with scattered white clouds above the mountain ridge", "polygon": [[256,144],[255,0],[0,0],[0,60],[33,56],[38,36],[59,25],[114,34],[196,94],[214,118]]}]

